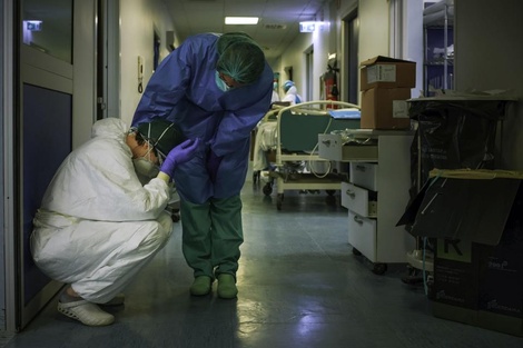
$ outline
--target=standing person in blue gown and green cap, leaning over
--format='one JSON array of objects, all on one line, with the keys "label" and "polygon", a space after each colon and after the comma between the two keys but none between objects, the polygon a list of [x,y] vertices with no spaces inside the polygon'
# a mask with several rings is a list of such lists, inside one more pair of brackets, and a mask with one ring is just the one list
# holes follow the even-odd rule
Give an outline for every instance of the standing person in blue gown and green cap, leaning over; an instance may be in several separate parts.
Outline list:
[{"label": "standing person in blue gown and green cap, leaning over", "polygon": [[155,118],[176,122],[203,151],[177,167],[182,251],[194,270],[193,296],[237,296],[244,241],[240,190],[248,169],[250,131],[270,107],[273,71],[247,34],[188,38],[152,74],[132,125]]}]

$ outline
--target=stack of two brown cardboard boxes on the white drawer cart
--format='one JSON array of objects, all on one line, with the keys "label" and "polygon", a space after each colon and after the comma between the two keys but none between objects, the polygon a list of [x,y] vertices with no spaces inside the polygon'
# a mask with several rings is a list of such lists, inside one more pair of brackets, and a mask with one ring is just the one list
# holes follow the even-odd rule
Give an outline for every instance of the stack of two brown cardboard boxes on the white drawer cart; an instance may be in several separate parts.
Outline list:
[{"label": "stack of two brown cardboard boxes on the white drawer cart", "polygon": [[377,56],[361,68],[361,128],[409,129],[406,100],[416,86],[416,63]]}]

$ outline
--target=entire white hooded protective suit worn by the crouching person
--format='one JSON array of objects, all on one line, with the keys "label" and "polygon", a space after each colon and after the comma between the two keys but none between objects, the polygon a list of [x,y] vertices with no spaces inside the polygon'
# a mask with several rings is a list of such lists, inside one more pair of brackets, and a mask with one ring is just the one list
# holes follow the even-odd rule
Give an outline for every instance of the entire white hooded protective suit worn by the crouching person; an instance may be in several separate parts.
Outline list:
[{"label": "entire white hooded protective suit worn by the crouching person", "polygon": [[96,304],[121,292],[172,230],[170,188],[158,178],[140,183],[127,131],[119,119],[97,121],[91,139],[61,163],[33,219],[37,266]]}]

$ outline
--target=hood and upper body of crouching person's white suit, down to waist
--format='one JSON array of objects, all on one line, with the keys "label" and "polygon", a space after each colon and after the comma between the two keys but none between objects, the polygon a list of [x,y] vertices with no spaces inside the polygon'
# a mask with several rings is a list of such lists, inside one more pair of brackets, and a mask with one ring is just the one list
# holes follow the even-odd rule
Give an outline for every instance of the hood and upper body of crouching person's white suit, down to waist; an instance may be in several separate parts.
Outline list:
[{"label": "hood and upper body of crouching person's white suit, down to waist", "polygon": [[92,138],[63,160],[41,209],[105,221],[158,217],[168,202],[169,188],[161,179],[140,183],[126,143],[127,130],[120,119],[97,121]]}]

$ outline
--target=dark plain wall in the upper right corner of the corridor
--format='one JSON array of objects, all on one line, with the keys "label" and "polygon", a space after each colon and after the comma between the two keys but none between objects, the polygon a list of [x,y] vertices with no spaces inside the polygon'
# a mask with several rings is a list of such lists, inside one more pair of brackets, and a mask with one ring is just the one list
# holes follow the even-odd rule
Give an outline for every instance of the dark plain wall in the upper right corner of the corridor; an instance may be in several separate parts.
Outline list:
[{"label": "dark plain wall in the upper right corner of the corridor", "polygon": [[502,163],[523,170],[523,1],[455,1],[458,90],[511,90],[520,99],[504,122]]}]

